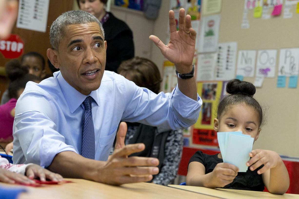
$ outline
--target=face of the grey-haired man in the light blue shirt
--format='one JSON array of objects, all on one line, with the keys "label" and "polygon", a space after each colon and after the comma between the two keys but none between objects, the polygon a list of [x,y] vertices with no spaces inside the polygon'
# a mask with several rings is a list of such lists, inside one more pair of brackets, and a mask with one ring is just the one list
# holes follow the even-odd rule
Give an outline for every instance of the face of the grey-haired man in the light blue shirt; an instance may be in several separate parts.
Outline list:
[{"label": "face of the grey-haired man in the light blue shirt", "polygon": [[58,45],[56,68],[77,91],[88,95],[100,87],[106,64],[103,33],[96,22],[68,25]]}]

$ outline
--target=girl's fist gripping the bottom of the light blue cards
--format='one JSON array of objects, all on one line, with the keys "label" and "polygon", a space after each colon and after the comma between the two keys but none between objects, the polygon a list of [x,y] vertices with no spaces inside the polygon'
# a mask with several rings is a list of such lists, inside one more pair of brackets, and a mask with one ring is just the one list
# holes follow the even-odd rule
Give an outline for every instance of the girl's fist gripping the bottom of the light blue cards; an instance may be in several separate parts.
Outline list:
[{"label": "girl's fist gripping the bottom of the light blue cards", "polygon": [[210,174],[210,182],[212,186],[207,187],[224,187],[232,183],[238,174],[238,167],[229,163],[218,163]]}]

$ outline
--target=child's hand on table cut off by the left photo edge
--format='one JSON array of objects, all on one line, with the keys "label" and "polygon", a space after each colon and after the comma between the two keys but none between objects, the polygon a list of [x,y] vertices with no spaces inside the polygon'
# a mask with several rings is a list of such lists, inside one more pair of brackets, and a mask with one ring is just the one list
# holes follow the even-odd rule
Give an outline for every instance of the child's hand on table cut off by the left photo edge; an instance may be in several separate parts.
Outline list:
[{"label": "child's hand on table cut off by the left photo edge", "polygon": [[0,182],[4,183],[22,183],[22,184],[34,184],[35,182],[25,175],[14,173],[11,171],[8,171],[6,169],[0,168]]}]

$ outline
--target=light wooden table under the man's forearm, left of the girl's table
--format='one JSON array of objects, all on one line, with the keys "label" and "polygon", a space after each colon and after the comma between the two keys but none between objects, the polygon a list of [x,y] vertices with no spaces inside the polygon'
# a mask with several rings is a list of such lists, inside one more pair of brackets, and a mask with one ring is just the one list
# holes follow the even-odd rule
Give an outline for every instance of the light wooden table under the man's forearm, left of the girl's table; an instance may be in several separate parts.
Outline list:
[{"label": "light wooden table under the man's forearm, left of the girl's table", "polygon": [[[28,187],[27,193],[19,195],[19,199],[215,199],[218,197],[202,195],[181,189],[153,183],[131,183],[122,186],[112,186],[82,179],[66,179],[73,183],[46,185],[45,187]],[[0,183],[4,187],[17,187]],[[1,194],[1,193],[0,193]],[[1,197],[0,197],[1,198]]]}]

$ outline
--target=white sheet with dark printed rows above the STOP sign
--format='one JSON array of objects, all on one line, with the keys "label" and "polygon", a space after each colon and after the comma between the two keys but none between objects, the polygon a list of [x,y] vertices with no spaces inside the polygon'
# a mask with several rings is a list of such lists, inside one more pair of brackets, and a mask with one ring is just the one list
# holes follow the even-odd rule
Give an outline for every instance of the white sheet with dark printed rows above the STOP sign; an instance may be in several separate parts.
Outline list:
[{"label": "white sheet with dark printed rows above the STOP sign", "polygon": [[50,0],[19,1],[16,27],[46,32]]}]

